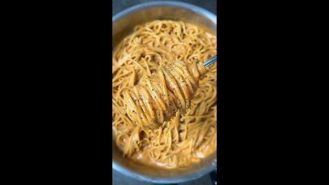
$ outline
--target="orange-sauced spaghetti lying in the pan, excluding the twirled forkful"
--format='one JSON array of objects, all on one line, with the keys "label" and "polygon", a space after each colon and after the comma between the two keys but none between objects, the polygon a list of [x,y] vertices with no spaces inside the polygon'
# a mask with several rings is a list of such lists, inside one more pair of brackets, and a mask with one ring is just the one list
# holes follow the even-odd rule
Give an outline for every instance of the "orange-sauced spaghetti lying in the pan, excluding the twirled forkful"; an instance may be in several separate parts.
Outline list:
[{"label": "orange-sauced spaghetti lying in the pan, excluding the twirled forkful", "polygon": [[[140,81],[151,79],[151,73],[164,73],[164,65],[176,64],[175,61],[186,64],[204,62],[215,56],[216,50],[216,36],[202,27],[176,21],[138,25],[135,32],[114,49],[112,129],[117,146],[125,157],[154,167],[184,168],[216,151],[217,64],[207,67],[199,79],[199,88],[193,92],[191,103],[184,101],[182,111],[178,107],[170,121],[165,121],[165,116],[156,119],[160,120],[154,127],[156,130],[142,129],[141,125],[134,123],[127,115],[124,98],[134,86],[145,83]],[[175,73],[172,76],[178,77]],[[160,82],[159,78],[154,80]],[[172,101],[177,101],[177,98]],[[190,105],[186,107],[186,103]]]}]

